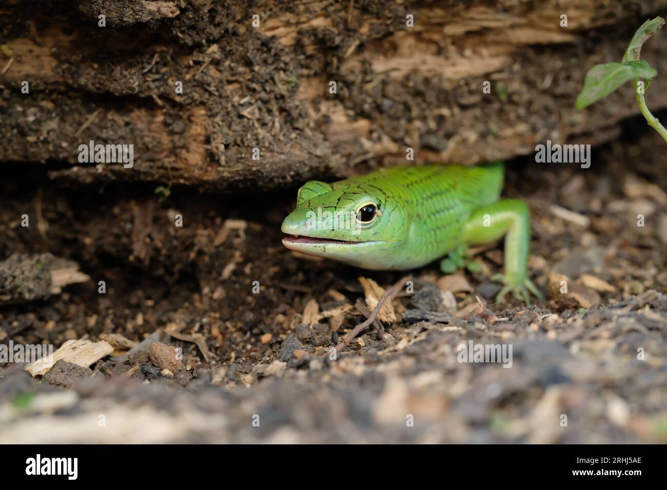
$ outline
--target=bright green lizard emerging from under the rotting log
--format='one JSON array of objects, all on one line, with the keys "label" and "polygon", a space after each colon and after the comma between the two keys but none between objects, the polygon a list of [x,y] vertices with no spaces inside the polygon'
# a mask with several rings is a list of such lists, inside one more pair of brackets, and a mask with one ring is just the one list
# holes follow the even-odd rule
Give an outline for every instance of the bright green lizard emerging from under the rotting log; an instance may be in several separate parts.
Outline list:
[{"label": "bright green lizard emerging from under the rotting log", "polygon": [[308,181],[281,227],[288,249],[364,269],[413,269],[443,257],[441,269],[475,265],[469,245],[505,235],[508,292],[542,299],[528,278],[530,212],[523,201],[500,199],[502,163],[478,167],[393,167],[331,184]]}]

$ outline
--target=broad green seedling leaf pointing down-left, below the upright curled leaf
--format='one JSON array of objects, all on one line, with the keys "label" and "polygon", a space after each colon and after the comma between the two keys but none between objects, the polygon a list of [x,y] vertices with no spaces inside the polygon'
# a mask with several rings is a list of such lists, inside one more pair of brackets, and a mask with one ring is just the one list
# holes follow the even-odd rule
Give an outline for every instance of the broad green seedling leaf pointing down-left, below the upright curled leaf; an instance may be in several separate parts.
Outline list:
[{"label": "broad green seedling leaf pointing down-left, below the upright curled leaf", "polygon": [[588,71],[586,79],[584,79],[584,88],[577,96],[576,108],[584,109],[584,107],[604,99],[627,81],[636,78],[650,80],[657,74],[658,72],[644,60],[595,65]]}]

